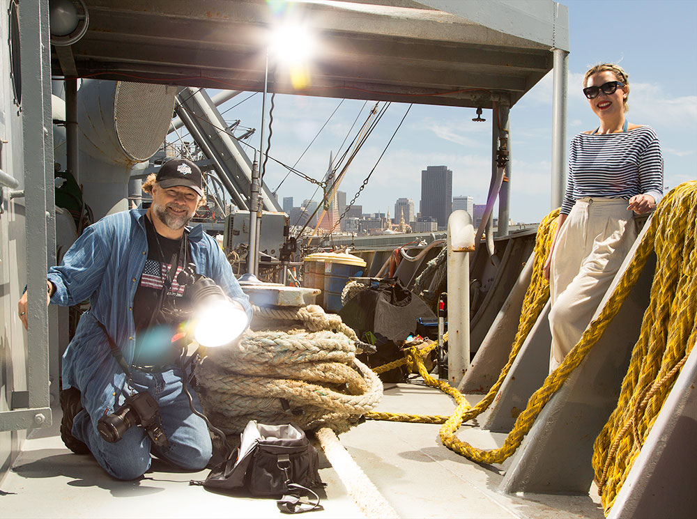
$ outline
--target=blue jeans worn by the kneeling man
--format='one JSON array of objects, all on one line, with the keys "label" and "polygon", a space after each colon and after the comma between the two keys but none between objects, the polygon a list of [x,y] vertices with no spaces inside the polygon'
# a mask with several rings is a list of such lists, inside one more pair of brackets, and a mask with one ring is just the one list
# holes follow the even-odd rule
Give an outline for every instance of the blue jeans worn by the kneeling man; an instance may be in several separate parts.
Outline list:
[{"label": "blue jeans worn by the kneeling man", "polygon": [[[185,470],[206,467],[213,452],[210,435],[206,422],[189,407],[189,399],[182,388],[181,370],[174,367],[162,373],[134,370],[131,387],[137,392],[147,391],[155,398],[169,445],[160,449],[151,444],[144,428],[136,426],[129,428],[118,442],[109,443],[97,432],[100,411],[83,409],[72,423],[72,435],[87,445],[102,468],[116,479],[137,479],[150,468],[151,451]],[[201,410],[197,394],[189,390],[194,405]]]}]

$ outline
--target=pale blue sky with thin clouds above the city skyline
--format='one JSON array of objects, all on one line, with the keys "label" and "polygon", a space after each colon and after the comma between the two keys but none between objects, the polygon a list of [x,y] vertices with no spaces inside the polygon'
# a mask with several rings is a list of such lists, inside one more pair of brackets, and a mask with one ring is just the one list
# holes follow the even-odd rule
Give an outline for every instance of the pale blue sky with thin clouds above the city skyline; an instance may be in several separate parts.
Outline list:
[{"label": "pale blue sky with thin clouds above the city skyline", "polygon": [[[620,63],[629,72],[631,123],[654,127],[664,151],[665,184],[697,178],[697,1],[567,0],[571,54],[567,138],[597,126],[581,93],[583,73],[595,63]],[[551,72],[511,110],[511,218],[539,222],[550,210]],[[242,93],[221,111],[250,94]],[[341,100],[277,95],[270,155],[294,164]],[[363,101],[345,100],[298,163],[313,178],[327,170]],[[369,103],[370,105],[371,103]],[[382,153],[408,105],[393,103],[349,169],[340,189],[350,200]],[[367,109],[367,108],[366,108]],[[366,109],[360,116],[365,120]],[[228,120],[256,127],[250,144],[259,146],[261,94],[228,111]],[[414,105],[357,204],[363,212],[394,212],[400,197],[418,210],[421,170],[445,164],[453,171],[452,194],[484,203],[491,171],[491,111],[487,123],[473,123],[475,110]],[[239,133],[239,132],[238,132]],[[266,181],[274,189],[286,170],[269,162]],[[289,176],[279,200],[293,196],[296,206],[314,186]],[[319,196],[319,195],[318,195]],[[317,199],[317,197],[316,197]]]}]

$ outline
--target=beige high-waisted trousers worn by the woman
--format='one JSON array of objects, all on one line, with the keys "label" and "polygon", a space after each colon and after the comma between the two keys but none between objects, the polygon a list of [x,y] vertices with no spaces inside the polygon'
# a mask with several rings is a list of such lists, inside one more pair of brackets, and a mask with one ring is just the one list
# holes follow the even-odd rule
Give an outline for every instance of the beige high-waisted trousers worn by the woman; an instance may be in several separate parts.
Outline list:
[{"label": "beige high-waisted trousers worn by the woman", "polygon": [[576,346],[607,292],[637,230],[624,199],[576,200],[559,231],[549,275],[549,371]]}]

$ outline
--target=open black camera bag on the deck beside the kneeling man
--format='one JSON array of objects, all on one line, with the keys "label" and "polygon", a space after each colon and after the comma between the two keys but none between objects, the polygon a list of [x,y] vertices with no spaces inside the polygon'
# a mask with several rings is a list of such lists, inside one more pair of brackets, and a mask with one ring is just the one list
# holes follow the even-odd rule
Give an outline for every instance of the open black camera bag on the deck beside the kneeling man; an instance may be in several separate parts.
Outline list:
[{"label": "open black camera bag on the deck beside the kneeling man", "polygon": [[[281,497],[281,511],[300,513],[320,509],[319,496],[310,488],[323,486],[319,455],[305,432],[292,426],[250,421],[242,435],[236,460],[216,465],[203,482],[206,488],[245,488],[257,497]],[[309,495],[312,502],[301,502]]]}]

